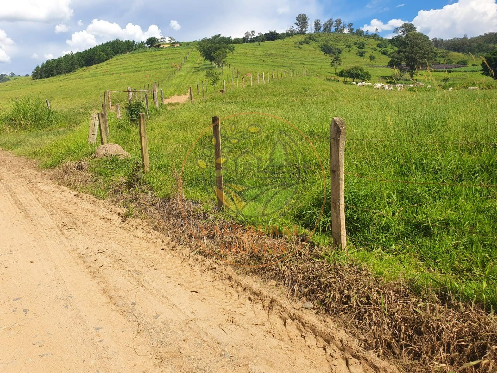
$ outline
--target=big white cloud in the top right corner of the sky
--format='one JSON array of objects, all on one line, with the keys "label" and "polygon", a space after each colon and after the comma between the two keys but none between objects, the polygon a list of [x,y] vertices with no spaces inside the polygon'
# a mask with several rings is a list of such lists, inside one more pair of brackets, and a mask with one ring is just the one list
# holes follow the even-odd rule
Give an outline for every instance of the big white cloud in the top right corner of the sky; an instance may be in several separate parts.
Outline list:
[{"label": "big white cloud in the top right corner of the sky", "polygon": [[430,39],[482,35],[497,31],[497,4],[495,0],[459,0],[441,9],[420,10],[413,23]]}]

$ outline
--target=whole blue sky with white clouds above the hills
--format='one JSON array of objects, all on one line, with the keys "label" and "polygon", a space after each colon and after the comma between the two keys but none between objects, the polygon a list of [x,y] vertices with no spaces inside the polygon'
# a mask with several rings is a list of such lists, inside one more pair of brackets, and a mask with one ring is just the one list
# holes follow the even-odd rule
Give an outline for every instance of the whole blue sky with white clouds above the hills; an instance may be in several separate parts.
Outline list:
[{"label": "whole blue sky with white clouds above the hills", "polygon": [[14,0],[0,5],[0,73],[30,74],[48,58],[115,38],[187,41],[217,33],[241,37],[252,29],[281,32],[298,13],[378,28],[385,37],[403,22],[430,38],[497,31],[495,0]]}]

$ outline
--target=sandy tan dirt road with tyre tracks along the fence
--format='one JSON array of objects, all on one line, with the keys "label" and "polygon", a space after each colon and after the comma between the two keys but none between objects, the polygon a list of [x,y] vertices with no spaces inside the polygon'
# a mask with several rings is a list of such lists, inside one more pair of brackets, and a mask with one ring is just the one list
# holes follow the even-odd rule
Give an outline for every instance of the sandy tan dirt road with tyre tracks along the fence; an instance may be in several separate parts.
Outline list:
[{"label": "sandy tan dirt road with tyre tracks along the fence", "polygon": [[118,212],[0,150],[1,372],[395,371]]}]

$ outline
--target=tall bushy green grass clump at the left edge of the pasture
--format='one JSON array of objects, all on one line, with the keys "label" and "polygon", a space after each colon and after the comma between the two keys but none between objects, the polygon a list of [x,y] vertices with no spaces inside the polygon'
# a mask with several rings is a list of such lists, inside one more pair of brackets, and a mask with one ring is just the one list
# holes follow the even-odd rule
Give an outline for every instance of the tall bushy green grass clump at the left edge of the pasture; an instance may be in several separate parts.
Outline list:
[{"label": "tall bushy green grass clump at the left edge of the pasture", "polygon": [[60,119],[39,97],[28,95],[18,99],[10,98],[9,103],[10,108],[0,116],[6,127],[21,130],[47,128]]}]

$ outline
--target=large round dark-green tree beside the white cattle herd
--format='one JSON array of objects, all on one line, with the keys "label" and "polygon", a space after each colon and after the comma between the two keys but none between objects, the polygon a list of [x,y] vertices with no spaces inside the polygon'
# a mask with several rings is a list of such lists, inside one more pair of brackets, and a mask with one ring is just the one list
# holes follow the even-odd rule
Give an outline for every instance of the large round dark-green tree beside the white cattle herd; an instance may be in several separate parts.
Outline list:
[{"label": "large round dark-green tree beside the white cattle herd", "polygon": [[392,54],[388,66],[394,68],[406,65],[409,69],[409,75],[413,79],[416,68],[420,65],[426,66],[426,64],[433,63],[436,56],[436,48],[426,35],[417,31],[409,31],[398,39],[398,49]]}]

